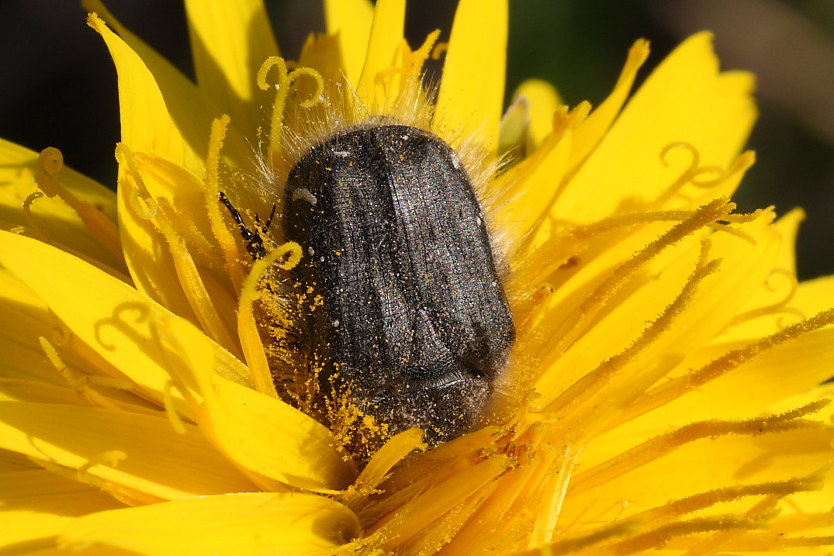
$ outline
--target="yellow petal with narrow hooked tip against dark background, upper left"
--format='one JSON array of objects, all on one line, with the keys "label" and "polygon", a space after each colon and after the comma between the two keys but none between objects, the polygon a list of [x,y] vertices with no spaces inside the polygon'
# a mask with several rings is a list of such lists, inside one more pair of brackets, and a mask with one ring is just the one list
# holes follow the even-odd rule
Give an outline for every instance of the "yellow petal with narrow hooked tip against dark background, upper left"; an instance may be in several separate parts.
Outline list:
[{"label": "yellow petal with narrow hooked tip against dark background, upper left", "polygon": [[102,36],[116,65],[122,142],[134,151],[157,153],[186,168],[200,168],[202,159],[183,140],[142,59],[94,13],[88,23]]}]

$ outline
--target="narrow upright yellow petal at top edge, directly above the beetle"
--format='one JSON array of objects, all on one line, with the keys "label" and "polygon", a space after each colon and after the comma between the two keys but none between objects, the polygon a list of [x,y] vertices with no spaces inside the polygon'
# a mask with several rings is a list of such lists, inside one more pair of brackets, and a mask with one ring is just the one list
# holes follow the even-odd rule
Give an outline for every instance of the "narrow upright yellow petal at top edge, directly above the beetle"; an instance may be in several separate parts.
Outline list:
[{"label": "narrow upright yellow petal at top edge, directly above the beetle", "polygon": [[394,65],[394,54],[403,40],[404,22],[405,0],[379,0],[376,3],[368,53],[356,87],[359,98],[368,106],[382,105],[386,98],[383,85],[377,83],[377,76]]}]

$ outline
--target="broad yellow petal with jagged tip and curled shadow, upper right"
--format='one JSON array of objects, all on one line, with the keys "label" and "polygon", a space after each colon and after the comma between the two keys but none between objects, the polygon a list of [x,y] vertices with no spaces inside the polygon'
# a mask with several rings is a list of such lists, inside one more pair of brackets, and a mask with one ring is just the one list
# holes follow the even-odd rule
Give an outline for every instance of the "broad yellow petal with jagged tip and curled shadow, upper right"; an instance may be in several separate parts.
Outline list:
[{"label": "broad yellow petal with jagged tip and curled shadow, upper right", "polygon": [[[676,48],[646,79],[570,179],[555,205],[555,218],[585,223],[615,213],[624,201],[634,206],[660,199],[686,172],[693,153],[700,155],[699,168],[727,168],[755,111],[736,110],[751,106],[751,79],[738,74],[720,77],[717,72],[708,33],[697,34]],[[672,148],[665,165],[661,160],[665,150],[681,142],[694,150]],[[675,203],[666,201],[661,208],[686,206],[683,203],[690,191],[705,194],[689,187],[671,199]],[[727,192],[722,188],[713,194]],[[589,198],[594,202],[589,203]],[[699,198],[701,203],[706,200]]]}]

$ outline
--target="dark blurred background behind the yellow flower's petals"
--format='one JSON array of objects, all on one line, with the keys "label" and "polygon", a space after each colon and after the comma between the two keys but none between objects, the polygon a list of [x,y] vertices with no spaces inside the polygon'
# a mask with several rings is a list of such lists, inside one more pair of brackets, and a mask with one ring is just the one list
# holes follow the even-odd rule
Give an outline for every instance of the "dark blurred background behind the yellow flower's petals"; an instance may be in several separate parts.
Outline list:
[{"label": "dark blurred background behind the yellow flower's petals", "polygon": [[[110,0],[129,28],[192,75],[182,5]],[[296,58],[308,30],[324,30],[314,0],[269,1],[282,54]],[[448,38],[455,2],[412,0],[407,34]],[[103,41],[74,1],[0,0],[0,137],[63,151],[68,165],[113,187],[118,141],[116,76]],[[565,102],[597,104],[636,38],[651,40],[647,67],[681,38],[716,33],[722,68],[758,77],[756,166],[736,200],[742,210],[797,205],[808,218],[800,278],[834,273],[834,2],[831,0],[513,0],[508,93],[524,78],[550,80]],[[641,73],[646,76],[646,71]]]}]

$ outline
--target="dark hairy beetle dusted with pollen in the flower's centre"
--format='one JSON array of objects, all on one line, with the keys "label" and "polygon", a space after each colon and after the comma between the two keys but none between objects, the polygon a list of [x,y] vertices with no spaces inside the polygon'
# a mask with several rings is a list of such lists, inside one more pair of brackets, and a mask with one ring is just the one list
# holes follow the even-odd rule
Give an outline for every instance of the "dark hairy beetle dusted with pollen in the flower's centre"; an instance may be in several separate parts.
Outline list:
[{"label": "dark hairy beetle dusted with pollen in the flower's centre", "polygon": [[324,395],[349,392],[388,433],[430,445],[477,422],[515,340],[469,174],[420,128],[343,128],[299,158],[284,186],[294,268],[323,303],[304,315]]}]

